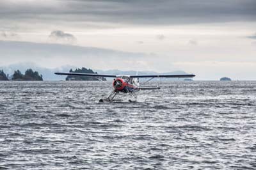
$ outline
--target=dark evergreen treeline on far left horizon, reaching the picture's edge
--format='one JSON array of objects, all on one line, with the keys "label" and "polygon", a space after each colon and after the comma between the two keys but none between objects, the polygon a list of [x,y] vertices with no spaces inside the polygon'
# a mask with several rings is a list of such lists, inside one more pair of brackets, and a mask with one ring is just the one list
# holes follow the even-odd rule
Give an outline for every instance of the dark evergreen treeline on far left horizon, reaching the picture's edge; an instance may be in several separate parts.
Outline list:
[{"label": "dark evergreen treeline on far left horizon, reaching the picture's edge", "polygon": [[31,68],[26,70],[25,74],[22,74],[20,70],[15,70],[13,75],[4,73],[3,70],[0,70],[0,81],[43,81],[43,76],[39,75],[38,72],[34,72]]}]

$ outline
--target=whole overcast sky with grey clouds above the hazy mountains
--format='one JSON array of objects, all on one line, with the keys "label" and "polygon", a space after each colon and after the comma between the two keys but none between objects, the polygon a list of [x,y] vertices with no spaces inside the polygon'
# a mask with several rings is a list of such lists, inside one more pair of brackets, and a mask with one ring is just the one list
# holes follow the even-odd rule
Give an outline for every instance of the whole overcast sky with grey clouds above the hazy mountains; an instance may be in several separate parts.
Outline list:
[{"label": "whole overcast sky with grey clouds above the hazy mountains", "polygon": [[1,0],[0,66],[256,80],[255,0]]}]

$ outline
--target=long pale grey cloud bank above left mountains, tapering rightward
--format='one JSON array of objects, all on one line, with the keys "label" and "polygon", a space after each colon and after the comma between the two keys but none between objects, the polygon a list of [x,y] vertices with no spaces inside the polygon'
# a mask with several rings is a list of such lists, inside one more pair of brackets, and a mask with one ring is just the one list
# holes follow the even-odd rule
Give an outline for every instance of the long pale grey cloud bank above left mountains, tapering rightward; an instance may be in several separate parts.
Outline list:
[{"label": "long pale grey cloud bank above left mountains, tapering rightward", "polygon": [[105,69],[116,65],[118,68],[129,68],[136,62],[138,67],[143,65],[138,61],[147,58],[147,54],[143,53],[57,43],[0,41],[0,47],[0,66],[12,64],[13,61],[15,63],[29,61],[48,68],[62,65]]}]

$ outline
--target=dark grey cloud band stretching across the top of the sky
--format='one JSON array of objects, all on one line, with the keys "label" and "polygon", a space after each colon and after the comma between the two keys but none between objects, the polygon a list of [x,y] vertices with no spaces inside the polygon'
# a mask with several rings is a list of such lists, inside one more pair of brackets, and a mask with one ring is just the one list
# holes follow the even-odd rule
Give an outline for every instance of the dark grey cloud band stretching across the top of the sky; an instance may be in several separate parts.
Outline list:
[{"label": "dark grey cloud band stretching across the top of the sky", "polygon": [[[189,24],[256,20],[255,0],[53,0],[10,4],[0,2],[0,19],[118,22],[127,24]],[[54,3],[52,3],[54,2]]]}]

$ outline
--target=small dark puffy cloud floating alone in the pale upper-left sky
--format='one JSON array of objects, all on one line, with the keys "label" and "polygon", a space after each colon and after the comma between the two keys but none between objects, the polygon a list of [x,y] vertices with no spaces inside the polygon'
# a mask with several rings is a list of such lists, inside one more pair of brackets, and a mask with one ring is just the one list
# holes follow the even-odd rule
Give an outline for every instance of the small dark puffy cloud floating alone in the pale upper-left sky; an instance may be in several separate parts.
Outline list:
[{"label": "small dark puffy cloud floating alone in the pale upper-left sky", "polygon": [[52,31],[49,38],[54,42],[60,43],[74,43],[76,42],[76,37],[69,33],[64,33],[63,31],[56,30]]}]

